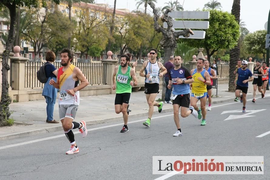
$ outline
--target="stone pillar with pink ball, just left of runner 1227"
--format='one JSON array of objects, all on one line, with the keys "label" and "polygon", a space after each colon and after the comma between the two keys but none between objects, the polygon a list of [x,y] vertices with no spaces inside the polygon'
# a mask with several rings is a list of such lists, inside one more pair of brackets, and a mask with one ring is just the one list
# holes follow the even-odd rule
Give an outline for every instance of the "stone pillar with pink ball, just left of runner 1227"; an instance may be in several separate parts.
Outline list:
[{"label": "stone pillar with pink ball, just left of runner 1227", "polygon": [[[101,60],[101,62],[104,63],[103,64],[103,67],[104,67],[105,64],[107,65],[107,68],[106,68],[107,70],[106,70],[106,72],[104,71],[104,73],[106,74],[106,83],[108,85],[113,85],[113,72],[114,72],[114,68],[116,66],[116,63],[118,61],[117,60],[113,60],[111,58],[111,56],[113,55],[113,53],[111,51],[108,51],[107,52],[107,55],[108,55],[107,59]],[[105,77],[104,75],[103,75],[103,77]],[[115,90],[112,90],[111,89],[110,90],[110,93],[111,94],[112,93],[115,93]]]}]

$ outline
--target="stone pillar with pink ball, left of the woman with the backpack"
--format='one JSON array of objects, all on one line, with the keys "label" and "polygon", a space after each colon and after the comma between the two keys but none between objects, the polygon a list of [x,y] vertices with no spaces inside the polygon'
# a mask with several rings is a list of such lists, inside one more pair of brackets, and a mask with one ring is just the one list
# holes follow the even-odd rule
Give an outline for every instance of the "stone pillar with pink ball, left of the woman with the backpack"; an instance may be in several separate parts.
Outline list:
[{"label": "stone pillar with pink ball, left of the woman with the backpack", "polygon": [[[16,48],[15,48],[16,47]],[[14,52],[19,53],[21,48],[19,46],[15,46]],[[15,56],[10,58],[12,62],[12,90],[24,90],[25,86],[25,62],[29,60],[28,58],[24,58],[21,56]]]}]

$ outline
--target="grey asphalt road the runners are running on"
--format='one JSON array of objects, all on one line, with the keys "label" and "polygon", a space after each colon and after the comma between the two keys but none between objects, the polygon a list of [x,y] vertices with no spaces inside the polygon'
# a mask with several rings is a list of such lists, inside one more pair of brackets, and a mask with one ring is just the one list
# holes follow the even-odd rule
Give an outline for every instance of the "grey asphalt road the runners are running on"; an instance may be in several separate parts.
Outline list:
[{"label": "grey asphalt road the runners are running on", "polygon": [[[172,136],[177,130],[172,113],[154,114],[150,128],[142,125],[147,117],[130,119],[127,133],[120,133],[122,120],[88,126],[86,138],[75,134],[80,152],[73,155],[65,154],[70,145],[62,131],[1,142],[0,179],[270,179],[270,134],[257,137],[270,131],[268,101],[249,100],[246,113],[222,114],[241,110],[240,102],[212,105],[206,126],[192,115],[181,118],[179,137]],[[152,156],[264,156],[264,175],[153,175]]]}]

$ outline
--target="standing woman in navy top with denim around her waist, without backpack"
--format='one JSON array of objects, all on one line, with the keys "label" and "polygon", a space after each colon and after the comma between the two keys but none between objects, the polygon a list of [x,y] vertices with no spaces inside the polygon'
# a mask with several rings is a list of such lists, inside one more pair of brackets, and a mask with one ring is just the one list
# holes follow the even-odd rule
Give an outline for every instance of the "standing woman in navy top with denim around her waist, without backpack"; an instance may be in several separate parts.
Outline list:
[{"label": "standing woman in navy top with denim around her waist, without backpack", "polygon": [[45,72],[46,72],[46,77],[48,77],[47,82],[44,85],[43,91],[42,91],[42,96],[45,97],[47,107],[47,123],[59,123],[59,121],[55,121],[53,119],[53,109],[54,109],[54,104],[56,101],[56,96],[57,96],[57,89],[53,87],[52,85],[49,85],[49,81],[51,79],[56,81],[56,76],[57,76],[57,69],[55,66],[52,64],[55,61],[55,53],[52,51],[48,51],[46,54],[46,63],[45,63]]}]

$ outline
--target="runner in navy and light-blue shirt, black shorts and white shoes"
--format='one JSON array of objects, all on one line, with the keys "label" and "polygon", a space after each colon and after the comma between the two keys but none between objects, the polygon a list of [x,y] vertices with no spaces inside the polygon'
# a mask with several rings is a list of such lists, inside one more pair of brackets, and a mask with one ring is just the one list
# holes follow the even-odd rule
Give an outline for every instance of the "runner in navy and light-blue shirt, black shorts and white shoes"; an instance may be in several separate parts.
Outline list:
[{"label": "runner in navy and light-blue shirt, black shorts and white shoes", "polygon": [[174,123],[177,127],[177,131],[173,136],[181,136],[182,131],[179,120],[179,108],[181,107],[181,117],[187,117],[192,114],[195,118],[198,117],[198,113],[194,110],[194,107],[189,107],[190,104],[190,83],[194,80],[190,72],[181,67],[181,56],[174,57],[174,68],[169,71],[169,84],[168,89],[173,86],[173,92],[170,99],[173,100],[174,107]]}]

